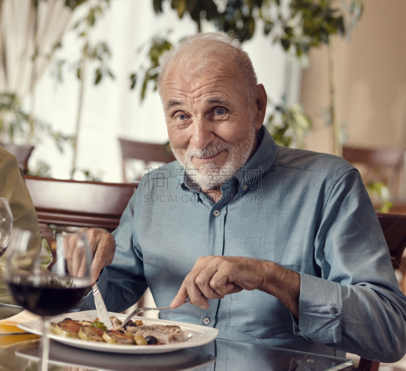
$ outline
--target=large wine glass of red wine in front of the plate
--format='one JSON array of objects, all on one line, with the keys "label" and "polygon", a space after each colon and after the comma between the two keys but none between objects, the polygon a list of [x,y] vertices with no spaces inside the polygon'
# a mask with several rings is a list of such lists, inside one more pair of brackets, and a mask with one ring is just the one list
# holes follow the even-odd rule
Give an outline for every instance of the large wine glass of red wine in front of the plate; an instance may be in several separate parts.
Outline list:
[{"label": "large wine glass of red wine in front of the plate", "polygon": [[83,233],[58,233],[51,271],[41,266],[31,233],[14,228],[7,249],[5,279],[17,303],[42,317],[41,370],[48,369],[49,319],[74,308],[90,285],[92,255]]}]

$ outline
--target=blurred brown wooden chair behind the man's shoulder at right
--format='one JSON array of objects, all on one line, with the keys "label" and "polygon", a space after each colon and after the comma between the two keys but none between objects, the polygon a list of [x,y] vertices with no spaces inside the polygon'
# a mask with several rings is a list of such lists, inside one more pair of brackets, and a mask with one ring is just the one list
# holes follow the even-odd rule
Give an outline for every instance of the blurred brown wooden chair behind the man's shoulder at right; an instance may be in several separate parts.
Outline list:
[{"label": "blurred brown wooden chair behind the man's shoulder at right", "polygon": [[361,171],[364,184],[382,182],[399,196],[399,184],[404,168],[405,151],[399,149],[366,149],[343,147],[343,157],[350,163],[365,165]]}]

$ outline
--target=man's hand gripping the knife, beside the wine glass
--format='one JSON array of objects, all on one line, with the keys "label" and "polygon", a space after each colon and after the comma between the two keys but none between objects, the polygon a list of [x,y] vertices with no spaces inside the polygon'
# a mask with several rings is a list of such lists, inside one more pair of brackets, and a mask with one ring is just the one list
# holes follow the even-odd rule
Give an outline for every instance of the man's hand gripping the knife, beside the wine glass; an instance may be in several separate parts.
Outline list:
[{"label": "man's hand gripping the knife, beside the wine glass", "polygon": [[101,269],[113,261],[116,242],[108,231],[101,228],[84,228],[79,231],[86,234],[87,243],[93,255],[90,267],[91,284],[93,285],[98,279]]}]

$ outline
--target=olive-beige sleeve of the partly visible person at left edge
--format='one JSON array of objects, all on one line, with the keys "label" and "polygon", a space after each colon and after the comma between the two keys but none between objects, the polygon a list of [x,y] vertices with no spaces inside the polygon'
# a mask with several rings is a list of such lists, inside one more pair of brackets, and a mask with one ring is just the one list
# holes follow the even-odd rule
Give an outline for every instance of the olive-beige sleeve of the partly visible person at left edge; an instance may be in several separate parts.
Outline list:
[{"label": "olive-beige sleeve of the partly visible person at left edge", "polygon": [[[17,159],[3,147],[0,147],[0,197],[5,197],[9,201],[13,213],[13,226],[29,230],[32,233],[31,248],[39,253],[41,251],[41,235],[31,196],[25,185]],[[1,265],[5,263],[4,256],[1,263]],[[7,292],[7,285],[0,277],[0,303],[2,302],[12,303],[12,300]]]}]

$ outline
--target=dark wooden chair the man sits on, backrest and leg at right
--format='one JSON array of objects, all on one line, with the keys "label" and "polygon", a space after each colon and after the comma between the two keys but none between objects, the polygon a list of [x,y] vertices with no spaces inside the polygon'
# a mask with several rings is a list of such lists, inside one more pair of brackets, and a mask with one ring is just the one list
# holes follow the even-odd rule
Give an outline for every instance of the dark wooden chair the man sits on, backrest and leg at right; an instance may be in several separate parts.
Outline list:
[{"label": "dark wooden chair the man sits on, backrest and leg at right", "polygon": [[[406,248],[406,215],[377,213],[379,224],[389,248],[393,269],[402,269],[405,277],[406,264],[402,267],[402,255]],[[406,261],[404,262],[406,263]],[[360,371],[378,371],[379,362],[361,358],[358,369]]]}]

